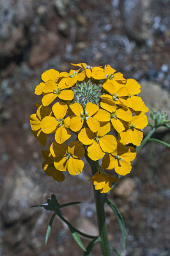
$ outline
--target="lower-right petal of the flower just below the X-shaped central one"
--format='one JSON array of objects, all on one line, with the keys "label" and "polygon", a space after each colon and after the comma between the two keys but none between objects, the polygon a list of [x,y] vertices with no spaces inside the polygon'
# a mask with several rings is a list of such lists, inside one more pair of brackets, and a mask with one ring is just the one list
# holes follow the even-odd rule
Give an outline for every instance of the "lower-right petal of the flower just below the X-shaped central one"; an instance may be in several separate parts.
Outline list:
[{"label": "lower-right petal of the flower just below the X-shaped central one", "polygon": [[105,135],[104,137],[100,138],[99,141],[100,147],[104,152],[111,153],[117,147],[116,138],[113,135]]}]

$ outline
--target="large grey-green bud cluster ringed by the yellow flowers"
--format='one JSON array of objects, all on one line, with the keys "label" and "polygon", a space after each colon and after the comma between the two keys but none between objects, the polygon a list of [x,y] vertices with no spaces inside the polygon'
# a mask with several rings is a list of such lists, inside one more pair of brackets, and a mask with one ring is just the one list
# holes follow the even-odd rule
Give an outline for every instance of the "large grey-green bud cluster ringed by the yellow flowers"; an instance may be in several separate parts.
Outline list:
[{"label": "large grey-green bud cluster ringed by the yellow flowers", "polygon": [[80,103],[82,108],[86,108],[88,102],[100,105],[102,84],[95,84],[89,79],[88,82],[76,83],[72,90],[74,92],[73,102]]}]

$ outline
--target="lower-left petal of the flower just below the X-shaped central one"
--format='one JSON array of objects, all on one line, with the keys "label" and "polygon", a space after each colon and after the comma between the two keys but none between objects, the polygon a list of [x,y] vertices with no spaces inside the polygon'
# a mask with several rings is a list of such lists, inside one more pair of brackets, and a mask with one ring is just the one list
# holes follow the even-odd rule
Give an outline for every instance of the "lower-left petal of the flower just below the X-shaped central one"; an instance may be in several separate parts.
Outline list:
[{"label": "lower-left petal of the flower just below the X-shaped central one", "polygon": [[89,145],[88,147],[88,156],[93,161],[97,161],[98,159],[101,159],[104,157],[105,152],[100,147],[100,144],[97,143],[97,141],[94,141],[92,145]]}]

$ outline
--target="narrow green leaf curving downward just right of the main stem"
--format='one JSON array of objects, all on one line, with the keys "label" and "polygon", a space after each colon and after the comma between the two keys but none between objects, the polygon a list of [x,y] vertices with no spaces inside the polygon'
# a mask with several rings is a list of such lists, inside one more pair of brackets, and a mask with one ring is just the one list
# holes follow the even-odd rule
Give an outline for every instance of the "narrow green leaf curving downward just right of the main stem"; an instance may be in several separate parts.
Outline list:
[{"label": "narrow green leaf curving downward just right of the main stem", "polygon": [[125,230],[125,223],[123,221],[123,217],[121,216],[121,213],[118,210],[118,208],[116,207],[116,205],[114,205],[111,202],[111,200],[106,198],[106,202],[111,207],[112,211],[114,212],[114,214],[118,218],[118,222],[120,224],[120,229],[121,229],[121,236],[122,236],[122,239],[123,239],[123,246],[122,247],[123,247],[123,250],[125,250],[125,246],[126,246],[126,230]]}]

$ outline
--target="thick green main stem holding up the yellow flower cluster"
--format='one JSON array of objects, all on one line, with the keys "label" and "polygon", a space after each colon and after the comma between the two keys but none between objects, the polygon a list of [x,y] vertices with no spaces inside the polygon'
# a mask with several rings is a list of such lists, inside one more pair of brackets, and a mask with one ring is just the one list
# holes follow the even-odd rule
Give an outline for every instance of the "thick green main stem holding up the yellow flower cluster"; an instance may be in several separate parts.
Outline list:
[{"label": "thick green main stem holding up the yellow flower cluster", "polygon": [[[92,161],[87,154],[87,150],[85,148],[85,157],[88,163],[91,166],[91,171],[93,175],[97,173],[97,161]],[[95,203],[96,203],[96,209],[97,209],[97,223],[98,223],[98,230],[99,230],[99,236],[100,236],[100,247],[102,250],[103,256],[111,256],[111,252],[109,249],[109,240],[107,237],[107,226],[105,223],[105,211],[104,211],[104,197],[103,195],[94,189],[94,195],[95,195]]]}]

